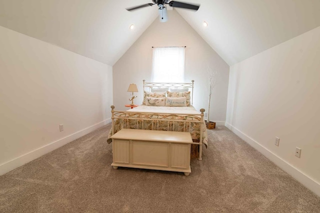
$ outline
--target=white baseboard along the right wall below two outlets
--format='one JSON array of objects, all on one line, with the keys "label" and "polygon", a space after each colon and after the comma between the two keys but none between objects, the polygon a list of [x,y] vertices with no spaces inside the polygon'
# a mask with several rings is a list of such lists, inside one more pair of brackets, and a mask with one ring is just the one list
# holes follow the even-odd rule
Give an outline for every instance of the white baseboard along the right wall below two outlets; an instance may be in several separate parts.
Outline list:
[{"label": "white baseboard along the right wall below two outlets", "polygon": [[225,122],[225,126],[230,129],[234,134],[239,136],[243,141],[251,145],[254,149],[264,155],[267,159],[272,161],[275,165],[280,167],[283,171],[287,174],[292,176],[295,180],[300,182],[303,186],[308,188],[310,191],[315,193],[317,196],[320,197],[320,184],[316,181],[312,180],[306,174],[302,173],[295,167],[293,167],[288,162],[284,161],[277,155],[273,154],[270,150],[266,149],[265,147],[261,146],[258,142],[251,139],[249,136],[245,135],[244,133],[240,132],[238,129],[233,127],[231,124]]}]

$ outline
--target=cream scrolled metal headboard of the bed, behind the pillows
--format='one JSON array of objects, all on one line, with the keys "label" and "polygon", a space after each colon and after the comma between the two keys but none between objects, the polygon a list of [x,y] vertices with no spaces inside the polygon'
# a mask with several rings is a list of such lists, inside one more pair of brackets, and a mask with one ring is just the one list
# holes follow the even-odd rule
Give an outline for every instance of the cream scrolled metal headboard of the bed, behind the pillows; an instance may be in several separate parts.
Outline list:
[{"label": "cream scrolled metal headboard of the bed, behind the pillows", "polygon": [[191,88],[189,91],[191,92],[191,105],[193,105],[193,83],[194,80],[192,80],[190,83],[153,83],[145,82],[145,80],[143,80],[143,91],[151,91],[151,88],[156,87]]}]

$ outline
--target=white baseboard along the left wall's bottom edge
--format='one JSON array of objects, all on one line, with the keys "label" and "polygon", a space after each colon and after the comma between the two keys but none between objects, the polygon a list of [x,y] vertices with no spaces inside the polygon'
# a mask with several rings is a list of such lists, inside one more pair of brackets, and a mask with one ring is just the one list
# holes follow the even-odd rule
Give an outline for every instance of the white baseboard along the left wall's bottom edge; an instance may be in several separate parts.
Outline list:
[{"label": "white baseboard along the left wall's bottom edge", "polygon": [[10,161],[8,161],[6,163],[3,163],[3,164],[0,165],[0,175],[3,175],[3,174],[5,174],[5,173],[7,173],[7,172],[9,172],[9,171],[11,171],[11,170],[13,170],[15,168],[18,168],[18,167],[22,166],[23,164],[26,164],[26,163],[28,163],[28,162],[30,162],[30,161],[38,158],[38,157],[41,157],[42,155],[44,155],[46,153],[49,153],[49,152],[51,152],[51,151],[53,151],[53,150],[65,145],[65,144],[67,144],[67,143],[69,143],[71,141],[74,141],[75,139],[77,139],[79,137],[82,137],[83,135],[86,135],[86,134],[88,134],[88,133],[90,133],[90,132],[102,127],[103,125],[110,123],[110,122],[111,122],[110,118],[106,119],[106,120],[101,121],[101,122],[99,122],[97,124],[94,124],[94,125],[92,125],[90,127],[82,129],[82,130],[80,130],[80,131],[78,131],[76,133],[73,133],[73,134],[71,134],[69,136],[66,136],[66,137],[61,138],[61,139],[59,139],[57,141],[54,141],[54,142],[52,142],[50,144],[47,144],[47,145],[45,145],[43,147],[40,147],[40,148],[38,148],[36,150],[33,150],[33,151],[29,152],[29,153],[21,155],[20,157],[17,157],[17,158],[15,158],[13,160],[10,160]]}]

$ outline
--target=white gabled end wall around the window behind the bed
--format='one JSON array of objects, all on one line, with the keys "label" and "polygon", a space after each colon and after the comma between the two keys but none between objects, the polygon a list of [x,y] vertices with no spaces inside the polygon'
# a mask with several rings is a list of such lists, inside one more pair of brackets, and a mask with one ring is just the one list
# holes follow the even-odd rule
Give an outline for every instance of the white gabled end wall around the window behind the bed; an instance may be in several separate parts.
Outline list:
[{"label": "white gabled end wall around the window behind the bed", "polygon": [[[174,10],[168,11],[169,20],[159,22],[158,18],[145,30],[138,40],[113,65],[113,103],[115,109],[125,110],[129,104],[130,83],[138,86],[135,104],[143,99],[142,80],[150,81],[152,65],[152,46],[186,46],[185,81],[194,80],[193,106],[199,110],[207,109],[208,74],[207,65],[220,73],[219,84],[214,88],[211,98],[210,118],[224,125],[226,116],[227,85],[229,66]],[[127,109],[127,108],[126,108]]]}]

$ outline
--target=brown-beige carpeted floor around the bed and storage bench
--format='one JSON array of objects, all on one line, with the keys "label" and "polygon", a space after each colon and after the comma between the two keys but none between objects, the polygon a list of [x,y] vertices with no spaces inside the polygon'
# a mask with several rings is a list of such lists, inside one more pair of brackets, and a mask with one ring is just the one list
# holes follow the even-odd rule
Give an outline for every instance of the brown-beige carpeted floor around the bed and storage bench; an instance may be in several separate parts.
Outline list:
[{"label": "brown-beige carpeted floor around the bed and storage bench", "polygon": [[320,198],[225,127],[183,173],[113,170],[106,125],[0,176],[0,212],[320,213]]}]

